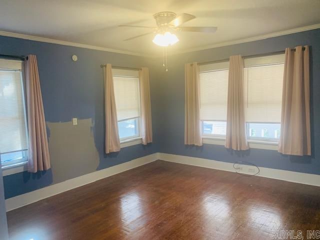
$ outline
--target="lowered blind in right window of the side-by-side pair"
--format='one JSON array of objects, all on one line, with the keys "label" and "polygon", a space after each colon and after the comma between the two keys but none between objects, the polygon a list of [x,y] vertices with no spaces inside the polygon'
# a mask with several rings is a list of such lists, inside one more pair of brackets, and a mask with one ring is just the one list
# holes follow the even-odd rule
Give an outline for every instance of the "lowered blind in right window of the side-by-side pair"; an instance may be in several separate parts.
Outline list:
[{"label": "lowered blind in right window of the side-by-side pair", "polygon": [[244,61],[245,121],[280,122],[283,54],[257,58]]}]

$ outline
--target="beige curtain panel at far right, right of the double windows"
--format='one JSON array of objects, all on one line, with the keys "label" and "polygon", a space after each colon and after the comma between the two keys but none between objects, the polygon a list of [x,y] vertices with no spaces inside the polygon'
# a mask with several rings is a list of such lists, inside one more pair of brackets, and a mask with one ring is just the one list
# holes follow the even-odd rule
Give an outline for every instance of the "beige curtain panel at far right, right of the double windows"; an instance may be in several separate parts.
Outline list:
[{"label": "beige curtain panel at far right, right of the double windows", "polygon": [[308,46],[285,49],[279,152],[311,155]]}]

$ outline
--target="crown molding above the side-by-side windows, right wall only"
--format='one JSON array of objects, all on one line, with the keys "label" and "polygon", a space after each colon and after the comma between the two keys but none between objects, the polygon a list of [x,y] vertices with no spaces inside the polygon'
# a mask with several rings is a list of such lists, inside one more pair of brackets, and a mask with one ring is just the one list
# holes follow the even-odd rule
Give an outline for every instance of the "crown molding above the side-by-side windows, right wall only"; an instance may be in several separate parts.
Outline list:
[{"label": "crown molding above the side-by-side windows, right wall only", "polygon": [[171,52],[170,55],[176,55],[176,54],[187,53],[187,52],[192,52],[192,51],[200,51],[200,50],[221,47],[221,46],[234,45],[234,44],[245,43],[245,42],[250,42],[250,41],[257,41],[257,40],[287,35],[287,34],[301,32],[301,31],[313,30],[313,29],[317,29],[317,28],[320,28],[320,23],[297,27],[297,28],[292,28],[292,29],[283,30],[283,31],[272,32],[272,33],[268,33],[268,34],[264,34],[264,35],[258,35],[258,36],[248,37],[248,38],[232,40],[232,41],[223,41],[223,42],[215,43],[212,45],[189,48],[187,50],[174,51],[174,52]]}]

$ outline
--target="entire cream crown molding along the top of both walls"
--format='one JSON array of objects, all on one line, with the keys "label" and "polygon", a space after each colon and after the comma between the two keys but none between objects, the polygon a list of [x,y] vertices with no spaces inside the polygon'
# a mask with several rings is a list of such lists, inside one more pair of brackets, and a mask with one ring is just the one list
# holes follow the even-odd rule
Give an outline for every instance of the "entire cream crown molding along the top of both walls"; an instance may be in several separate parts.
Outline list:
[{"label": "entire cream crown molding along the top of both walls", "polygon": [[[272,32],[272,33],[258,35],[258,36],[252,36],[252,37],[232,40],[232,41],[223,41],[223,42],[215,43],[212,45],[194,47],[194,48],[189,48],[186,50],[173,51],[173,52],[170,52],[169,55],[176,55],[176,54],[187,53],[187,52],[192,52],[192,51],[200,51],[200,50],[205,50],[205,49],[210,49],[210,48],[215,48],[215,47],[234,45],[234,44],[245,43],[245,42],[250,42],[250,41],[257,41],[257,40],[287,35],[287,34],[301,32],[301,31],[313,30],[313,29],[317,29],[317,28],[320,28],[320,23],[297,27],[297,28],[292,28],[292,29],[283,30],[283,31]],[[138,52],[124,51],[124,50],[119,50],[119,49],[94,46],[94,45],[82,44],[82,43],[71,42],[71,41],[56,40],[56,39],[51,39],[51,38],[47,38],[47,37],[32,36],[32,35],[27,35],[27,34],[1,31],[1,30],[0,30],[0,35],[22,38],[22,39],[33,40],[33,41],[48,42],[48,43],[66,45],[66,46],[75,46],[75,47],[82,47],[82,48],[93,49],[93,50],[109,51],[109,52],[115,52],[115,53],[121,53],[121,54],[135,55],[135,56],[143,56],[143,57],[150,57],[150,58],[160,57],[160,55],[150,56],[149,54],[143,54],[143,53],[138,53]]]}]

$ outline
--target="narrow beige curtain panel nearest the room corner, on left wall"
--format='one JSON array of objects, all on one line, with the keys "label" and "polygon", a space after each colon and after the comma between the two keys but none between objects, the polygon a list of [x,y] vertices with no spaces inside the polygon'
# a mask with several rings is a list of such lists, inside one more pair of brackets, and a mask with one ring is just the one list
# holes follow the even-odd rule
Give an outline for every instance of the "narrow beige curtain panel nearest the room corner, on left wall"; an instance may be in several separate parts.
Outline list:
[{"label": "narrow beige curtain panel nearest the room corner, on left wall", "polygon": [[142,144],[152,142],[152,120],[151,120],[151,100],[149,69],[141,67],[139,70],[140,98],[141,98],[141,134]]}]

